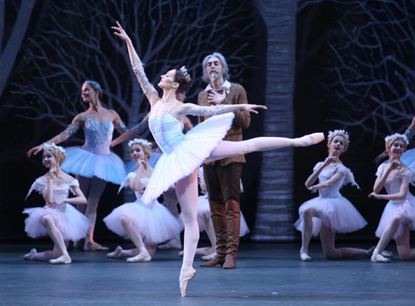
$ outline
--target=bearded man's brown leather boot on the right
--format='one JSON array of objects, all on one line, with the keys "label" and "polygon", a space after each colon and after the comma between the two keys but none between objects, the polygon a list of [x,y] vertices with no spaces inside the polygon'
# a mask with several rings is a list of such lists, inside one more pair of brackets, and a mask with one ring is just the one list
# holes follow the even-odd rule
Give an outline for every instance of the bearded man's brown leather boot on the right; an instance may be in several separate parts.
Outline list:
[{"label": "bearded man's brown leather boot on the right", "polygon": [[226,224],[228,225],[228,241],[226,242],[223,269],[235,269],[237,267],[237,251],[239,249],[241,209],[239,208],[239,203],[234,200],[226,201],[225,209]]}]

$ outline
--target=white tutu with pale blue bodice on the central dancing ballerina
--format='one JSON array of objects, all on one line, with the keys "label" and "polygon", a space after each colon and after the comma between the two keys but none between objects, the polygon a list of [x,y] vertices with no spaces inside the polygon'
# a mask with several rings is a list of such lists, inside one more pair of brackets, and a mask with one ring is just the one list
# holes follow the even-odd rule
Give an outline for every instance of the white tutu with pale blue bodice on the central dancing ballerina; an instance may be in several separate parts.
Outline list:
[{"label": "white tutu with pale blue bodice on the central dancing ballerina", "polygon": [[183,134],[181,122],[168,111],[157,117],[150,116],[151,133],[163,156],[154,168],[142,202],[148,204],[157,199],[173,183],[199,168],[225,137],[233,118],[233,113],[212,116]]}]

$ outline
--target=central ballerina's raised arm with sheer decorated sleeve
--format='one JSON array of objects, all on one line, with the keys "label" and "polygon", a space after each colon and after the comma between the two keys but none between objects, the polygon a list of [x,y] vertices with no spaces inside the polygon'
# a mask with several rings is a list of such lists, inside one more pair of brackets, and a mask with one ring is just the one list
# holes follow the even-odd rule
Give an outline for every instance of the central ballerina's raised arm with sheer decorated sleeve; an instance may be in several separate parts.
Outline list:
[{"label": "central ballerina's raised arm with sheer decorated sleeve", "polygon": [[127,50],[129,54],[129,59],[131,61],[131,66],[133,67],[133,71],[137,76],[138,82],[140,82],[142,91],[145,93],[145,96],[147,96],[150,105],[153,106],[159,99],[158,92],[156,91],[156,89],[154,89],[153,85],[150,84],[149,79],[145,75],[143,67],[144,64],[141,62],[140,57],[138,57],[138,54],[131,42],[131,39],[129,38],[129,36],[124,31],[124,29],[118,21],[117,26],[112,26],[111,28],[113,30],[116,30],[116,32],[114,32],[114,35],[120,37],[127,44]]}]

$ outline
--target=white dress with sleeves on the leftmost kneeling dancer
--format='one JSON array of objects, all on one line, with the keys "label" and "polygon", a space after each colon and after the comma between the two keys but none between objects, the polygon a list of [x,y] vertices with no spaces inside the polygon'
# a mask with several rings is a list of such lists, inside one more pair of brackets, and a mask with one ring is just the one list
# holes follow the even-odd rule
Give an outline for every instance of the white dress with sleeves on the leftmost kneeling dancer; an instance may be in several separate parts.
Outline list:
[{"label": "white dress with sleeves on the leftmost kneeling dancer", "polygon": [[[54,185],[53,201],[68,198],[68,191],[71,186],[79,186],[79,182],[75,179],[70,184]],[[40,193],[44,188],[47,188],[46,182],[42,179],[37,179],[33,183],[32,188],[30,188],[28,195],[33,190],[37,190]],[[42,217],[44,215],[51,215],[53,217],[55,225],[62,233],[64,240],[80,240],[88,235],[88,230],[91,227],[89,219],[77,211],[71,204],[63,204],[57,206],[57,208],[48,208],[48,206],[25,208],[23,213],[29,215],[24,221],[24,230],[32,238],[48,235],[48,230],[42,224]]]}]

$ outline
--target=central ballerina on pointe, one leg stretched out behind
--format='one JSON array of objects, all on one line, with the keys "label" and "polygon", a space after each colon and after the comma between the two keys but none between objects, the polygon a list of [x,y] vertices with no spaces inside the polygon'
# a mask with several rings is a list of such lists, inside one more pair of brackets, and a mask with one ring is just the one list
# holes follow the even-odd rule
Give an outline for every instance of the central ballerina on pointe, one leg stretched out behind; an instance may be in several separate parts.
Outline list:
[{"label": "central ballerina on pointe, one leg stretched out behind", "polygon": [[[142,196],[142,202],[149,204],[157,199],[169,186],[176,183],[176,195],[181,205],[185,238],[183,249],[183,265],[179,276],[181,295],[186,296],[187,284],[196,275],[193,269],[194,254],[199,241],[197,224],[197,170],[203,162],[216,161],[229,156],[247,154],[254,151],[274,150],[288,146],[308,146],[319,143],[324,134],[316,133],[302,138],[259,137],[248,141],[222,141],[232,124],[232,111],[245,109],[257,114],[255,109],[266,109],[262,105],[215,105],[199,107],[192,103],[182,103],[176,99],[178,92],[184,92],[192,86],[187,69],[173,69],[161,75],[158,87],[163,89],[163,96],[149,83],[144,67],[133,48],[131,39],[117,22],[114,35],[127,43],[129,58],[149,100],[151,110],[149,127],[158,147],[163,151],[149,184]],[[212,116],[196,125],[187,134],[181,131],[183,116]]]}]

